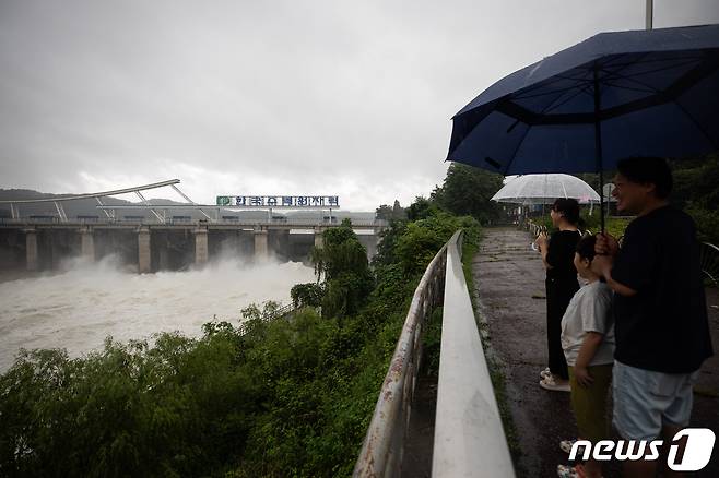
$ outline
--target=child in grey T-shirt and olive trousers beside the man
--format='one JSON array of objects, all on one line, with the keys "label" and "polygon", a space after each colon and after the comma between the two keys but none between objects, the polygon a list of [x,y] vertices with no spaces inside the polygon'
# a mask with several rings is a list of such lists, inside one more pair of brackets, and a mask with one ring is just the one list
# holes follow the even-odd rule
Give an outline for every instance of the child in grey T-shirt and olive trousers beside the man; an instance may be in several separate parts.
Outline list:
[{"label": "child in grey T-shirt and olive trousers beside the man", "polygon": [[[587,280],[571,298],[562,318],[562,348],[569,368],[571,409],[579,437],[597,443],[609,437],[606,395],[614,361],[612,289],[591,271],[597,238],[585,236],[577,244],[574,264]],[[601,477],[601,464],[590,457],[584,466],[588,478]],[[559,477],[573,470],[559,465]]]}]

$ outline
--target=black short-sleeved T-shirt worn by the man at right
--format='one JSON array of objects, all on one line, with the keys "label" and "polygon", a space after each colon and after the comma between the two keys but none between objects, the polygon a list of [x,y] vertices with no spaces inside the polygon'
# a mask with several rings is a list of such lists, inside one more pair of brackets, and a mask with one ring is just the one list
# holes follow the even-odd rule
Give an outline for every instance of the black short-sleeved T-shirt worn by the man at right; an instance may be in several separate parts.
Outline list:
[{"label": "black short-sleeved T-shirt worn by the man at right", "polygon": [[671,206],[626,228],[612,278],[637,294],[614,295],[614,358],[622,363],[689,373],[711,356],[695,229],[687,214]]}]

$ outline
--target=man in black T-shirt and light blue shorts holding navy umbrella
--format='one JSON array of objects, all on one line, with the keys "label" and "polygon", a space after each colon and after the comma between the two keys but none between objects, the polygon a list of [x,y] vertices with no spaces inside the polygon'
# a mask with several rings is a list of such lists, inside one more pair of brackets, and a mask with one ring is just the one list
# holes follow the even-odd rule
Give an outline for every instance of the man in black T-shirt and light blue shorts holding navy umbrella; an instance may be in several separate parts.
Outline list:
[{"label": "man in black T-shirt and light blue shorts holding navy umbrella", "polygon": [[[664,159],[623,159],[614,184],[617,210],[637,217],[621,248],[599,235],[601,255],[592,261],[615,292],[613,423],[625,440],[667,443],[688,426],[692,385],[712,355],[696,228],[667,201],[672,175]],[[624,467],[627,477],[653,477],[657,461]]]}]

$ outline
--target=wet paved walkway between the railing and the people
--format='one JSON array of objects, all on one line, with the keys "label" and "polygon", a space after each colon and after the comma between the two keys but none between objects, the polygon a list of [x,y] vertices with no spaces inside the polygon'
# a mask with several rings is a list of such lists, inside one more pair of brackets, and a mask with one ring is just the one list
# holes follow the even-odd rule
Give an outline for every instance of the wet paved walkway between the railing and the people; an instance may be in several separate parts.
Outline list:
[{"label": "wet paved walkway between the railing and the people", "polygon": [[[576,437],[569,394],[539,386],[546,367],[546,302],[544,270],[530,249],[528,232],[514,228],[484,229],[472,273],[480,314],[488,322],[490,346],[506,377],[507,401],[520,453],[514,456],[518,477],[555,477],[556,465],[568,456],[558,449],[563,439]],[[707,289],[708,304],[719,304],[717,289]],[[719,349],[719,310],[709,308],[715,349]],[[692,426],[719,435],[719,357],[707,360],[695,387]],[[699,477],[719,476],[719,445]],[[606,477],[621,476],[616,463]]]}]

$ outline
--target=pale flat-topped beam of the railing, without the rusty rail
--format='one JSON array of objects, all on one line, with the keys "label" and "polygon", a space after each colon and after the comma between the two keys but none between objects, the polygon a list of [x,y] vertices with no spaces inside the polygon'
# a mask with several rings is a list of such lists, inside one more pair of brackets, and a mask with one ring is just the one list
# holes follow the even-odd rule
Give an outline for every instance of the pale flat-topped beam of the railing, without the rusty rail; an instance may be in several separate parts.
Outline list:
[{"label": "pale flat-topped beam of the railing, without the rusty rail", "polygon": [[461,256],[461,242],[450,240],[432,476],[514,477]]}]

